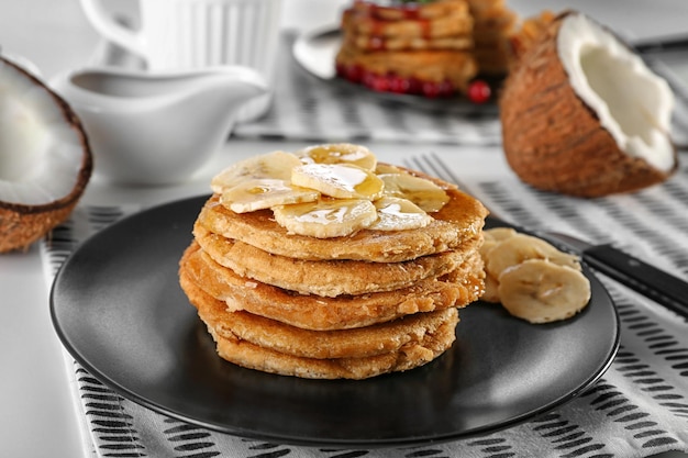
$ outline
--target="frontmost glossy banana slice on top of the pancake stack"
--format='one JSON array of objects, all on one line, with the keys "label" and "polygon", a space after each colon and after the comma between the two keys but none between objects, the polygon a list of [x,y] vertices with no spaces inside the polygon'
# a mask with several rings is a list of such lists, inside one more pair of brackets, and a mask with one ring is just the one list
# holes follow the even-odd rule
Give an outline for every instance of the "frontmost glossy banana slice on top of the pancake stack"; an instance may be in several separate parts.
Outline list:
[{"label": "frontmost glossy banana slice on top of the pancake stack", "polygon": [[346,236],[377,220],[375,205],[367,199],[321,199],[278,205],[273,212],[277,223],[290,233],[318,238]]}]

